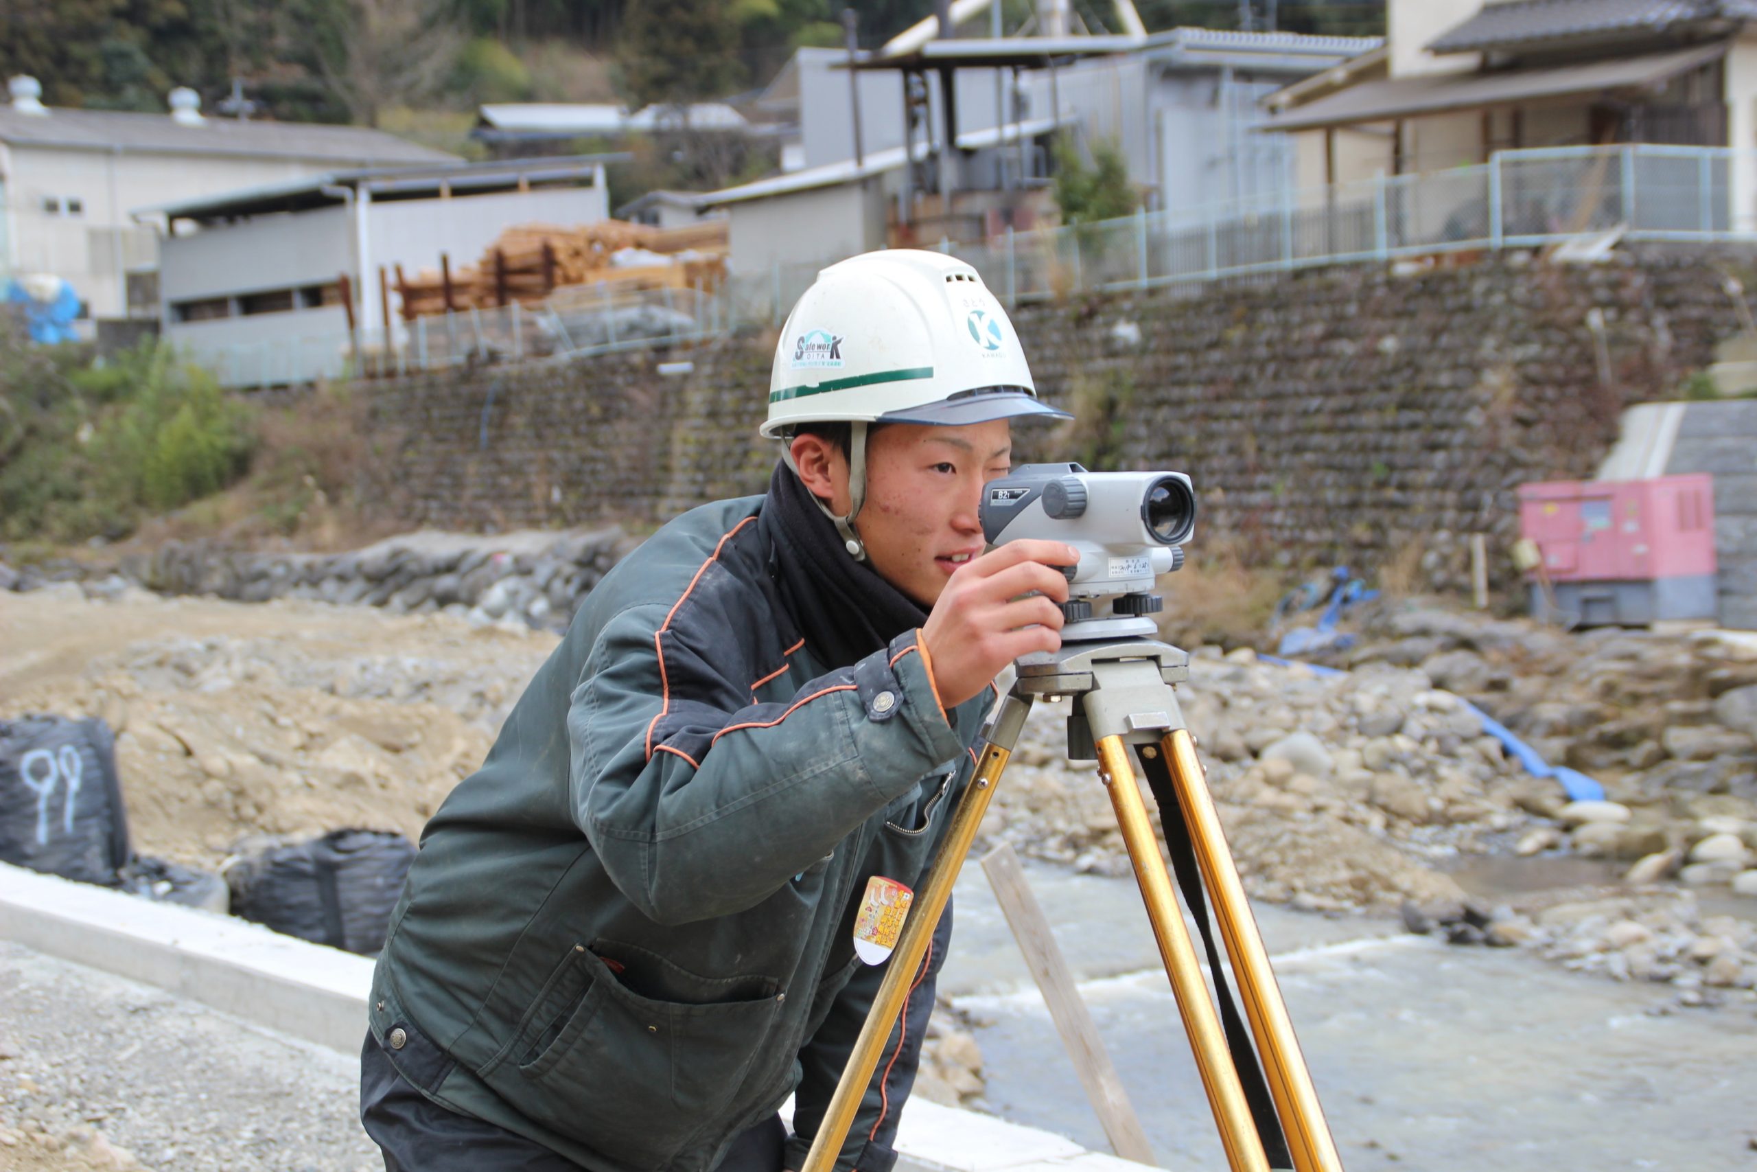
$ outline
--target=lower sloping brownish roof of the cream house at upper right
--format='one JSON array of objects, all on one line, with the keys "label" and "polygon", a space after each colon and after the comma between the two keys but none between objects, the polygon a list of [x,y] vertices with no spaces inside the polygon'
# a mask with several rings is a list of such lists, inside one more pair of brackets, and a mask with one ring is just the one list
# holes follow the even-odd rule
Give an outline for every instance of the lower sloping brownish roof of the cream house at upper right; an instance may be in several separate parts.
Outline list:
[{"label": "lower sloping brownish roof of the cream house at upper right", "polygon": [[1539,98],[1653,86],[1696,69],[1727,51],[1725,42],[1646,53],[1555,69],[1516,69],[1497,74],[1435,74],[1367,81],[1270,118],[1256,130],[1318,130],[1363,121],[1390,121],[1457,109],[1511,105]]}]

